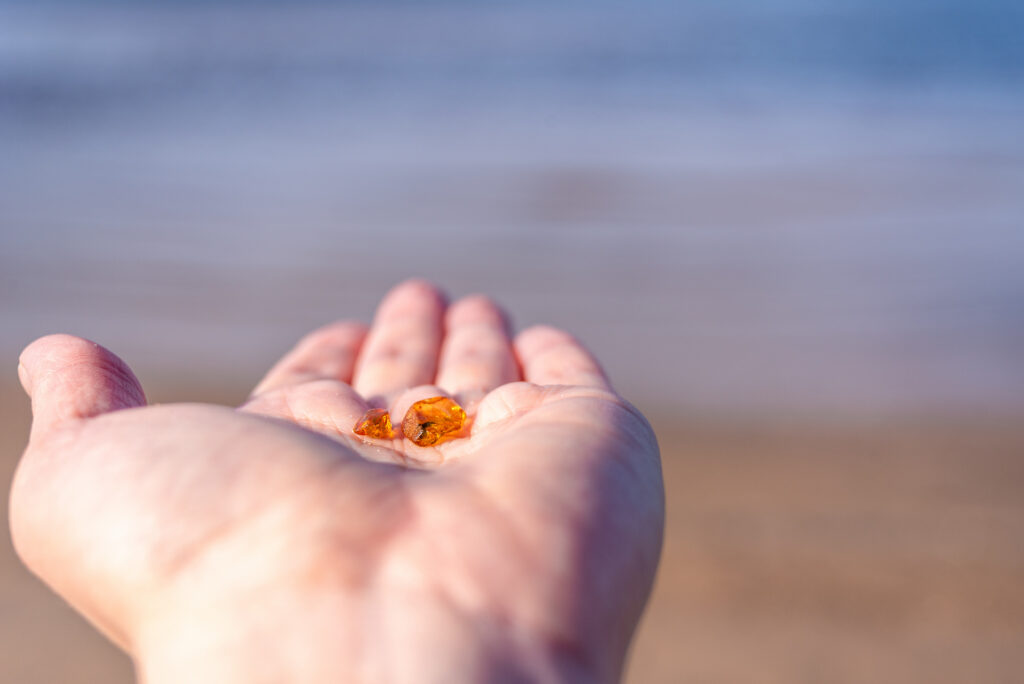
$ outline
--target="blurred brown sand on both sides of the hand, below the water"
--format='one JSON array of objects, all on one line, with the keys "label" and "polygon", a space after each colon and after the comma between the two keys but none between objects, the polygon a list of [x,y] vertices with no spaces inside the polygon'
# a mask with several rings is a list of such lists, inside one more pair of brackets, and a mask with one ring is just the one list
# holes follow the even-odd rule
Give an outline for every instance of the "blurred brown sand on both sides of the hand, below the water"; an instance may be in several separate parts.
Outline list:
[{"label": "blurred brown sand on both sides of the hand, below the water", "polygon": [[[225,402],[245,391],[150,389],[156,400]],[[9,477],[28,420],[13,385],[0,391],[0,417]],[[1018,681],[1019,421],[654,423],[669,525],[629,682]],[[9,543],[0,578],[4,681],[132,681],[128,659],[32,579]]]}]

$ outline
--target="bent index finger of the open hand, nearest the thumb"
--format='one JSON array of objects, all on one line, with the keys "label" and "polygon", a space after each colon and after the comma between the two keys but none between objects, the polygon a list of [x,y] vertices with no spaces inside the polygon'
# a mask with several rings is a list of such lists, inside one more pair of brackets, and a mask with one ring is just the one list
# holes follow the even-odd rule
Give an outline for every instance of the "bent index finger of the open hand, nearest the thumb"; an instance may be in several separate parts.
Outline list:
[{"label": "bent index finger of the open hand, nearest the thumb", "polygon": [[270,369],[253,395],[314,380],[350,383],[366,336],[367,327],[355,320],[342,320],[309,333]]}]

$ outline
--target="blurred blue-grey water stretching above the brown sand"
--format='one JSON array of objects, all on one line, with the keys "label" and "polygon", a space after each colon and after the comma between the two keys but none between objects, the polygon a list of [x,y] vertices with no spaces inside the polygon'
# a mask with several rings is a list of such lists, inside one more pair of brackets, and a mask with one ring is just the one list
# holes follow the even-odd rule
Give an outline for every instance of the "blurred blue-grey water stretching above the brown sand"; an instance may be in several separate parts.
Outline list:
[{"label": "blurred blue-grey water stretching above the brown sand", "polygon": [[420,273],[651,403],[1021,407],[1022,37],[991,1],[0,2],[0,353],[248,378]]}]

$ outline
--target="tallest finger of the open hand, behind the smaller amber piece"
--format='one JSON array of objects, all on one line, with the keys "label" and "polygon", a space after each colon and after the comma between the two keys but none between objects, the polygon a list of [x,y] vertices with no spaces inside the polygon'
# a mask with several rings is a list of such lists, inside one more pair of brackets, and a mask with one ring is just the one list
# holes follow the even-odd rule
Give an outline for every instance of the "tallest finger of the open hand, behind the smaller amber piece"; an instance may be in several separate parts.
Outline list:
[{"label": "tallest finger of the open hand, behind the smaller amber piece", "polygon": [[424,281],[407,281],[381,302],[355,365],[352,386],[386,405],[410,387],[434,381],[444,297]]}]

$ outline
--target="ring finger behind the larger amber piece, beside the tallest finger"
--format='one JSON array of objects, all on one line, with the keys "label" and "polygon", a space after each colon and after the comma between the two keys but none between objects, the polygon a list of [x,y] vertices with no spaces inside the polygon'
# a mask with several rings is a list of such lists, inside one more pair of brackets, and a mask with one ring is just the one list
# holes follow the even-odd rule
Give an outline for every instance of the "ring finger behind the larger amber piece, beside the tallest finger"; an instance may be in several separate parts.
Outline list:
[{"label": "ring finger behind the larger amber piece, beside the tallest finger", "polygon": [[519,368],[501,308],[481,296],[453,304],[445,315],[437,384],[467,405],[517,380]]}]

